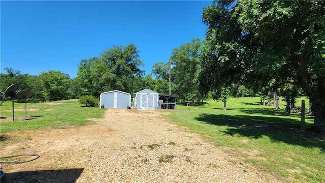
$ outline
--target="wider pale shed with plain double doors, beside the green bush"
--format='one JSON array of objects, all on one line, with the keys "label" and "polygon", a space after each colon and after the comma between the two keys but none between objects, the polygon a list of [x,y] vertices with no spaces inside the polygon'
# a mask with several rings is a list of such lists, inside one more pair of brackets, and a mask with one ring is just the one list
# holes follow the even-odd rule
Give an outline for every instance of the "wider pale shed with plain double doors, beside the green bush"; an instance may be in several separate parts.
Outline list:
[{"label": "wider pale shed with plain double doors, beside the green bush", "polygon": [[119,90],[104,92],[100,96],[100,107],[127,109],[131,106],[131,95]]}]

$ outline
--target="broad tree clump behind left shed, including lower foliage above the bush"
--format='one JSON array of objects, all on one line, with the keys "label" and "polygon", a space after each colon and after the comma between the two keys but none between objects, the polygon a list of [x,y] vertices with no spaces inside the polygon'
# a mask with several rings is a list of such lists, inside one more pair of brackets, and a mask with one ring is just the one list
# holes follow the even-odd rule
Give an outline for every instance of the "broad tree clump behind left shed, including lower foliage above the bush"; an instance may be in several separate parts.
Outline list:
[{"label": "broad tree clump behind left shed, including lower foliage above the bush", "polygon": [[105,50],[99,57],[83,59],[78,66],[78,79],[81,80],[85,92],[99,97],[104,91],[121,90],[134,93],[136,84],[143,72],[139,59],[139,51],[133,44],[113,46]]}]

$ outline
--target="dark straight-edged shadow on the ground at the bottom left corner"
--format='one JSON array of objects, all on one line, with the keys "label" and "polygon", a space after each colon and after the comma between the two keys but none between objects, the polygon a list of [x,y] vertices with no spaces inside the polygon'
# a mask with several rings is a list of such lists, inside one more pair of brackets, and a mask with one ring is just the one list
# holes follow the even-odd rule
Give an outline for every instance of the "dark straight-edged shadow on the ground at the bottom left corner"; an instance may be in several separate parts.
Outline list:
[{"label": "dark straight-edged shadow on the ground at the bottom left corner", "polygon": [[78,168],[62,170],[21,171],[13,173],[5,172],[5,176],[1,179],[1,182],[76,182],[83,170],[83,168]]}]

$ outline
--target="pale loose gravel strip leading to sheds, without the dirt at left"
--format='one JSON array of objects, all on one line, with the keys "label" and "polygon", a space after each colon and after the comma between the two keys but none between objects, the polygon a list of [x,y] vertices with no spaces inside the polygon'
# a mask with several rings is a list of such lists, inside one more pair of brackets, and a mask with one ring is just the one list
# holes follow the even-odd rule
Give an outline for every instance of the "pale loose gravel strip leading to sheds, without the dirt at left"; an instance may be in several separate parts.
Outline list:
[{"label": "pale loose gravel strip leading to sheds, without the dirt at left", "polygon": [[77,182],[279,182],[186,132],[165,111],[108,110]]}]

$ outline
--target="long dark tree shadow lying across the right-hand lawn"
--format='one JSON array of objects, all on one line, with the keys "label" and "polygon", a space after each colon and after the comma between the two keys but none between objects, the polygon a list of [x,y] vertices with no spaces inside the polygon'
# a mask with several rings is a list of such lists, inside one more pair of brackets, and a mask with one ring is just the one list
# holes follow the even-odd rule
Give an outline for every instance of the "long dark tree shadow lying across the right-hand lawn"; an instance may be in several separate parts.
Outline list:
[{"label": "long dark tree shadow lying across the right-hand lawn", "polygon": [[[300,130],[300,121],[281,117],[201,114],[194,118],[201,123],[232,127],[223,131],[226,135],[241,135],[258,139],[268,136],[275,142],[284,142],[304,147],[319,147],[325,151],[325,137],[306,130]],[[308,128],[306,124],[306,128]]]}]

